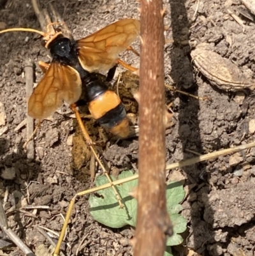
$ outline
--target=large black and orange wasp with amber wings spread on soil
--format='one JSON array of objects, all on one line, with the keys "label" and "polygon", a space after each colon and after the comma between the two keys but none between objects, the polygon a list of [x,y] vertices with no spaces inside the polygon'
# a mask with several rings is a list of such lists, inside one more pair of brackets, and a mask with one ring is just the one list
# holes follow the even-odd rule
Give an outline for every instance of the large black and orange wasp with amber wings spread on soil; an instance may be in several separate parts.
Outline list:
[{"label": "large black and orange wasp with amber wings spread on soil", "polygon": [[[44,77],[34,89],[28,102],[28,114],[34,119],[50,116],[64,100],[75,111],[82,89],[92,117],[101,126],[119,137],[129,134],[129,121],[119,96],[110,91],[96,72],[110,70],[108,80],[115,72],[118,56],[128,49],[140,31],[140,22],[135,19],[119,20],[80,40],[69,39],[60,29],[47,33],[36,29],[5,29],[10,31],[30,31],[43,36],[43,44],[50,50],[52,62],[44,64]],[[128,65],[126,65],[127,67]],[[92,143],[87,132],[87,142]]]}]

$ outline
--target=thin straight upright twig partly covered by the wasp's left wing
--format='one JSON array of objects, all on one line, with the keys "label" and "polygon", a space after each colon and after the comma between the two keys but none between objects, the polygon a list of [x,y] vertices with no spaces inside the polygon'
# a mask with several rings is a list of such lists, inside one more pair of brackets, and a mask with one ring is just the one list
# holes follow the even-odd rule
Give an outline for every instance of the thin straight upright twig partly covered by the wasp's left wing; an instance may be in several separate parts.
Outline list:
[{"label": "thin straight upright twig partly covered by the wasp's left wing", "polygon": [[[34,77],[33,63],[29,60],[25,60],[25,93],[27,99],[33,93],[33,77]],[[27,139],[34,132],[34,119],[27,114]],[[34,140],[30,140],[26,144],[27,159],[34,159]]]}]

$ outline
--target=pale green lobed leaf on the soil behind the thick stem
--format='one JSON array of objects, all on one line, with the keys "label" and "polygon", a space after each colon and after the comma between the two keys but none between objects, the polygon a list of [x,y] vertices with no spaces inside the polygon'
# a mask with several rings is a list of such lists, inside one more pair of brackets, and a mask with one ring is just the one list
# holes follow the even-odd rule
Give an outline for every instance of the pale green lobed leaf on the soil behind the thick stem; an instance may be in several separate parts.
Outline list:
[{"label": "pale green lobed leaf on the soil behind the thick stem", "polygon": [[[119,179],[133,176],[133,172],[125,171],[119,175]],[[112,180],[115,180],[112,177]],[[99,176],[96,179],[96,186],[108,183],[105,176]],[[129,181],[122,185],[116,186],[122,202],[125,205],[124,209],[119,208],[119,203],[116,200],[115,194],[112,188],[106,188],[105,190],[99,190],[97,193],[99,197],[91,195],[89,197],[89,204],[91,205],[91,215],[94,220],[112,228],[120,228],[125,225],[131,225],[135,227],[136,224],[136,200],[129,194],[133,192],[134,188],[138,185],[138,181]],[[181,183],[173,181],[166,186],[166,206],[168,213],[173,224],[173,236],[169,237],[166,245],[180,245],[183,239],[179,234],[186,230],[187,221],[182,217],[179,212],[182,211],[180,202],[184,199],[184,188]],[[168,247],[170,248],[170,247]],[[171,251],[166,252],[167,255],[171,255]]]}]

